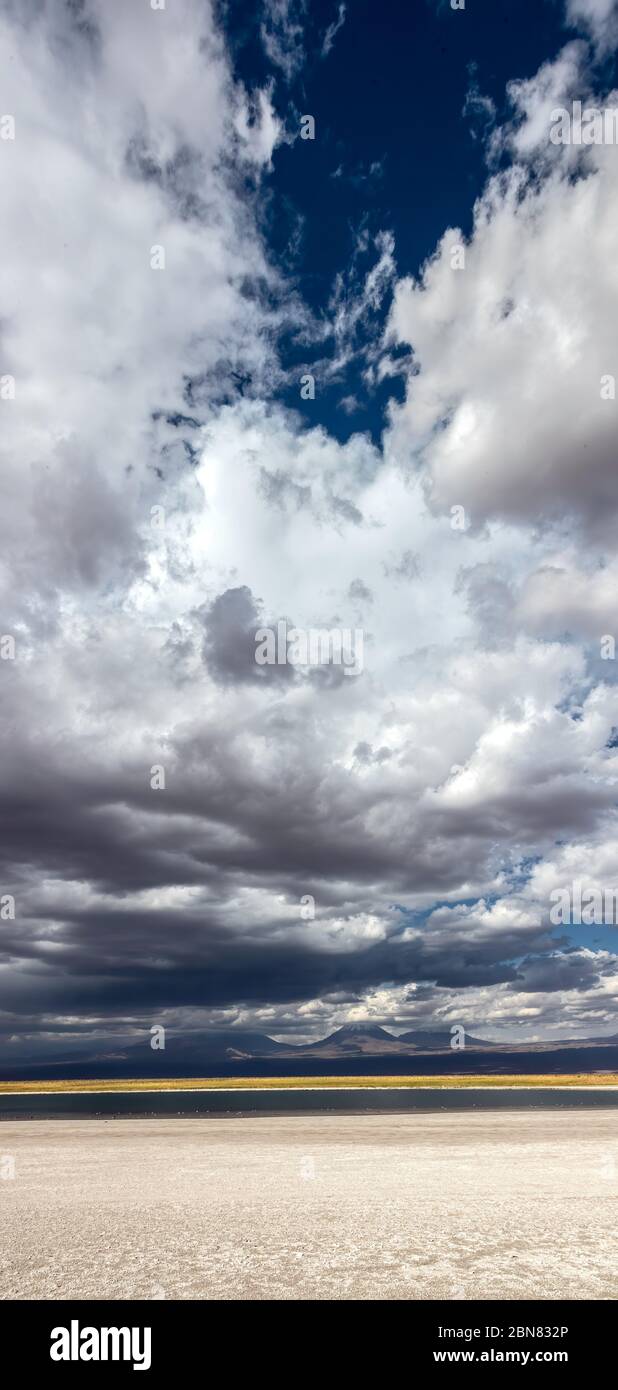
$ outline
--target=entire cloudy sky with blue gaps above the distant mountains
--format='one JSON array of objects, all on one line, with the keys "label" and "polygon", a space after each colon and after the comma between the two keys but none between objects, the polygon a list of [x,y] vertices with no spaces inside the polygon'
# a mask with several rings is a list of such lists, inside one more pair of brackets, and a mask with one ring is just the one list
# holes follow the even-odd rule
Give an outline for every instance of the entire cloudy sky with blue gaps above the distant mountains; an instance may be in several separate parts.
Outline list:
[{"label": "entire cloudy sky with blue gaps above the distant mountains", "polygon": [[4,1065],[618,1031],[617,46],[1,0]]}]

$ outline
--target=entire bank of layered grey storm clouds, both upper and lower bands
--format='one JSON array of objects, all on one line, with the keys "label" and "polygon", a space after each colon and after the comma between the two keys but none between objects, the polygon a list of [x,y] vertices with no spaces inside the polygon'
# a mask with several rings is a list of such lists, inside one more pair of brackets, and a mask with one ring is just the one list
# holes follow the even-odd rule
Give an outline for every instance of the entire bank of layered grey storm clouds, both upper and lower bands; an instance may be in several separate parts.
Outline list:
[{"label": "entire bank of layered grey storm clouds, both upper and lower bands", "polygon": [[[229,684],[229,701],[236,685],[247,688],[253,646],[243,648],[239,632],[253,641],[256,620],[243,588],[225,591],[200,617],[211,674]],[[137,669],[140,684],[124,691],[124,705],[131,699],[137,712],[161,674],[157,664]],[[389,905],[486,880],[497,834],[536,852],[540,837],[551,844],[590,830],[608,812],[611,788],[582,781],[565,795],[562,764],[551,770],[550,758],[549,776],[524,766],[519,784],[511,777],[500,796],[485,791],[478,805],[436,794],[415,805],[407,758],[393,749],[365,741],[353,745],[349,770],[332,762],[346,723],[337,703],[322,726],[317,710],[308,721],[306,706],[296,708],[296,684],[275,687],[276,698],[250,688],[251,706],[244,696],[229,703],[225,726],[204,709],[199,724],[181,721],[157,738],[143,731],[122,751],[76,730],[15,737],[15,691],[0,796],[1,885],[17,905],[15,920],[0,927],[1,958],[11,962],[4,1008],[144,1019],[162,1008],[294,1006],[410,980],[456,991],[596,986],[586,960],[549,955],[556,942],[525,903],[499,930],[474,912],[433,913],[424,924],[422,915],[401,917]],[[321,696],[342,698],[344,689]],[[150,785],[156,763],[165,767],[162,791]],[[194,898],[169,906],[165,892],[179,887]],[[154,897],[140,905],[139,892]],[[303,894],[315,898],[314,923],[300,919]],[[386,938],[367,942],[354,924],[372,913]],[[515,966],[518,958],[525,965]]]}]

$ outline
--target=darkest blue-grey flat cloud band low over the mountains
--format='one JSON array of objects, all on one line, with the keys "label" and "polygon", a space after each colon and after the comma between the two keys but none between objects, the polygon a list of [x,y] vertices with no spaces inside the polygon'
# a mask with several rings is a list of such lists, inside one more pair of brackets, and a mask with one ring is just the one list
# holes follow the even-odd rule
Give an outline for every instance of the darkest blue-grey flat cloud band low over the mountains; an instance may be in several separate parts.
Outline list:
[{"label": "darkest blue-grey flat cloud band low over the mountains", "polygon": [[[290,916],[290,935],[296,923]],[[519,938],[524,940],[524,938]],[[526,937],[529,942],[529,935]],[[539,944],[543,937],[539,934]],[[440,938],[439,951],[419,935],[394,937],[354,952],[318,949],[311,940],[285,940],[281,931],[262,941],[231,933],[208,912],[81,910],[65,913],[62,930],[50,949],[46,934],[3,931],[3,954],[19,952],[4,1005],[18,1015],[132,1013],[151,1009],[231,1004],[300,1004],[346,990],[362,992],[382,981],[431,980],[449,988],[515,980],[503,956],[517,949],[514,934],[503,945]]]}]

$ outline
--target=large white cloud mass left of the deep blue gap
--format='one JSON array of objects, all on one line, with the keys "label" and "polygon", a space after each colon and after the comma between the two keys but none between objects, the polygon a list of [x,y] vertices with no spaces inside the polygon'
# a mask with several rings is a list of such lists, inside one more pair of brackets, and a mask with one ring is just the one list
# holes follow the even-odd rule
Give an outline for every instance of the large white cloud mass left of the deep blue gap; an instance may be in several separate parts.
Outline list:
[{"label": "large white cloud mass left of the deep blue gap", "polygon": [[15,7],[0,61],[17,126],[3,146],[15,399],[0,588],[26,605],[37,588],[137,573],[140,523],[183,470],[194,416],[239,364],[256,381],[272,370],[258,286],[275,277],[222,156],[257,177],[276,125],[264,93],[251,115],[197,0],[182,25],[96,0]]}]

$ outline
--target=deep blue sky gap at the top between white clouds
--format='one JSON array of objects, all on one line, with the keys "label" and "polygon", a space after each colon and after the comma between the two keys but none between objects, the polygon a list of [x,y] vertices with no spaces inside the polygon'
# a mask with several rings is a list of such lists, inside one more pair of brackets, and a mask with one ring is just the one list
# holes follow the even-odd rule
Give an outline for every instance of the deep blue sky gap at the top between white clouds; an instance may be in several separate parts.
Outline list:
[{"label": "deep blue sky gap at the top between white clouds", "polygon": [[[278,68],[261,42],[260,8],[249,17],[247,6],[232,0],[221,14],[237,76],[249,88],[272,81]],[[471,99],[489,99],[494,120],[504,120],[507,83],[533,76],[568,36],[557,0],[522,0],[517,7],[478,0],[465,13],[435,0],[386,0],[379,18],[371,0],[353,0],[325,56],[324,36],[339,14],[333,0],[315,3],[303,25],[301,7],[290,7],[304,61],[278,82],[274,106],[290,132],[297,113],[315,114],[317,135],[275,150],[262,208],[274,257],[318,318],[328,317],[337,274],[349,274],[354,291],[381,232],[394,236],[400,275],[418,274],[446,227],[469,235],[487,177],[489,124],[487,111]],[[614,64],[614,53],[604,54],[610,82]],[[360,235],[367,247],[358,253]],[[387,307],[381,306],[367,336],[383,327]],[[311,353],[303,353],[303,345],[282,343],[290,370],[304,357]],[[336,381],[324,381],[307,406],[311,423],[339,439],[357,430],[378,439],[386,403],[399,395],[393,379],[367,392],[361,366],[354,361]],[[296,384],[282,396],[296,404]],[[350,411],[340,407],[349,396],[358,400]]]}]

